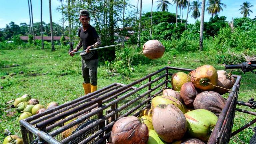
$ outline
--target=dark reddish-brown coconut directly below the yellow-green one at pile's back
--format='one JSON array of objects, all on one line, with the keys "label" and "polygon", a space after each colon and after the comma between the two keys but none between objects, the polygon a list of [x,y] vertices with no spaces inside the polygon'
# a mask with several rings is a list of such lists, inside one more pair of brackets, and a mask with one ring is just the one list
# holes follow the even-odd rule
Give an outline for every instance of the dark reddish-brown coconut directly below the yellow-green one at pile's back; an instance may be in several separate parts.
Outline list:
[{"label": "dark reddish-brown coconut directly below the yellow-green one at pile's back", "polygon": [[189,108],[193,108],[193,102],[197,94],[198,92],[192,82],[186,82],[180,88],[180,96]]}]

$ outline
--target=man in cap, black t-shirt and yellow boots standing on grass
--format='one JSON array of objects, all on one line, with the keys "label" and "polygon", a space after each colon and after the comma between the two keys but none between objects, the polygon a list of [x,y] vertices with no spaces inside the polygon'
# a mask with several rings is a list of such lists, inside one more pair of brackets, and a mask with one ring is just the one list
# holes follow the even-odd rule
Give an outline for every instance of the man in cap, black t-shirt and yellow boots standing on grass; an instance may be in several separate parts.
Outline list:
[{"label": "man in cap, black t-shirt and yellow boots standing on grass", "polygon": [[83,9],[80,11],[79,20],[82,23],[82,27],[78,29],[80,41],[69,55],[73,57],[75,54],[72,53],[77,52],[83,46],[85,52],[80,53],[82,57],[82,75],[84,78],[83,88],[84,93],[88,94],[97,90],[97,68],[99,62],[97,51],[90,51],[90,49],[99,47],[101,41],[95,28],[89,24],[90,16],[87,10]]}]

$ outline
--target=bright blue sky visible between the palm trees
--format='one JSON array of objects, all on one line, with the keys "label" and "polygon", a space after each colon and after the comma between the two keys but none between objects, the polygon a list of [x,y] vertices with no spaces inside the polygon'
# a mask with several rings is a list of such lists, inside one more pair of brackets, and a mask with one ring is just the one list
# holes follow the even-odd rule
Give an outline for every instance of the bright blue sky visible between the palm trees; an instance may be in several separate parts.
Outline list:
[{"label": "bright blue sky visible between the palm trees", "polygon": [[[40,0],[31,0],[32,1],[32,9],[33,9],[33,21],[40,22]],[[64,0],[65,1],[65,0]],[[157,11],[157,0],[153,0],[153,11]],[[172,2],[172,0],[169,0]],[[192,2],[194,0],[190,0]],[[199,0],[202,1],[202,0]],[[254,18],[256,16],[256,0],[222,0],[221,2],[226,4],[227,7],[223,7],[223,11],[220,12],[220,16],[226,16],[227,21],[232,21],[232,18],[242,17],[240,14],[239,8],[243,2],[248,1],[252,5],[254,5],[251,10],[253,13],[250,14],[250,18]],[[137,7],[137,0],[128,0],[128,2]],[[207,4],[207,0],[206,0]],[[57,8],[61,5],[58,0],[51,0],[52,6],[52,20],[53,22],[62,25],[62,15],[61,12],[57,10]],[[126,14],[129,13],[131,9],[126,10]],[[151,0],[142,0],[142,12],[150,12],[151,11]],[[175,4],[169,5],[168,11],[171,13],[176,13]],[[201,11],[200,11],[201,13]],[[178,10],[179,14],[179,10]],[[184,9],[183,19],[186,19],[187,9]],[[188,16],[188,23],[194,23],[195,19],[191,18],[191,13]],[[205,20],[209,21],[209,15],[205,12]],[[200,20],[200,19],[199,19]],[[6,24],[9,24],[11,21],[15,22],[15,24],[20,24],[21,22],[29,22],[29,11],[28,11],[28,1],[27,0],[0,0],[0,28],[4,28]],[[49,15],[49,0],[43,0],[43,21],[45,23],[50,22]],[[65,23],[67,25],[67,23]]]}]

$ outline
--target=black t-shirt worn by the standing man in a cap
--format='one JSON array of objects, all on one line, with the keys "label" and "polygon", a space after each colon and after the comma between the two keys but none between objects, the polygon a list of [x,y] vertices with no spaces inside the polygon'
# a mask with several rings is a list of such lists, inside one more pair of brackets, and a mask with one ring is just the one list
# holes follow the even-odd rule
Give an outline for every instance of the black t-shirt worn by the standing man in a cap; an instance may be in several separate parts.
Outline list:
[{"label": "black t-shirt worn by the standing man in a cap", "polygon": [[[78,29],[78,36],[81,38],[83,50],[86,50],[88,46],[96,43],[96,39],[99,37],[95,28],[91,25],[89,25],[89,28],[86,31],[83,30],[83,27],[80,27]],[[97,50],[91,51],[90,53],[93,54],[90,59],[98,59]]]}]

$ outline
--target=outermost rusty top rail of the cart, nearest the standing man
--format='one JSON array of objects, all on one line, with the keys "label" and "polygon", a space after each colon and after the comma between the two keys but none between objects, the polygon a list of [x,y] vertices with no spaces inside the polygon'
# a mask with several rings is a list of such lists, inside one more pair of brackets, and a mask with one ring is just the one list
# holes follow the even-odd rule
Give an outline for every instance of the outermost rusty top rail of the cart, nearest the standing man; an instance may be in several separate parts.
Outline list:
[{"label": "outermost rusty top rail of the cart, nearest the standing man", "polygon": [[113,87],[113,86],[116,86],[116,85],[117,85],[117,84],[113,83],[113,84],[111,84],[111,85],[109,85],[109,86],[106,86],[106,87],[104,87],[104,88],[102,88],[102,89],[99,89],[99,90],[97,90],[97,91],[95,91],[95,92],[89,93],[89,94],[87,94],[87,95],[85,95],[85,96],[79,97],[79,98],[77,98],[77,99],[74,99],[74,100],[69,101],[69,102],[67,102],[67,103],[64,103],[64,104],[62,104],[62,105],[59,105],[59,106],[57,106],[57,107],[54,107],[54,108],[52,108],[52,109],[46,110],[46,111],[44,111],[44,112],[42,112],[42,113],[39,113],[39,114],[33,115],[33,116],[31,116],[31,117],[28,117],[28,118],[25,119],[25,121],[30,122],[30,121],[35,120],[35,119],[37,119],[37,118],[39,118],[39,117],[42,117],[42,116],[44,116],[44,115],[53,114],[53,112],[55,112],[56,110],[65,108],[65,107],[67,107],[67,106],[69,106],[69,105],[71,105],[71,104],[77,103],[77,102],[79,102],[79,101],[81,101],[81,100],[84,100],[85,98],[88,98],[88,97],[90,97],[90,96],[93,96],[94,94],[97,94],[97,93],[99,93],[99,92],[102,92],[102,91],[104,91],[104,90],[106,90],[106,89],[109,89],[109,88],[111,88],[111,87]]}]

